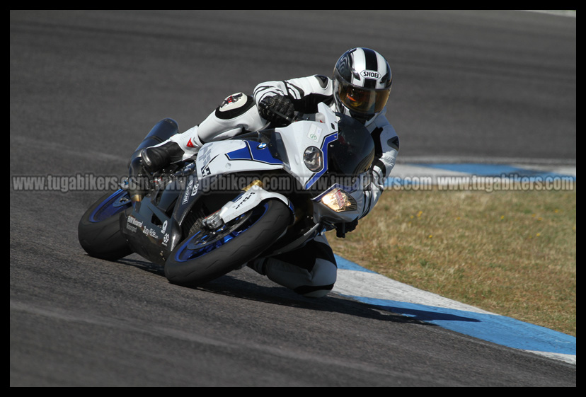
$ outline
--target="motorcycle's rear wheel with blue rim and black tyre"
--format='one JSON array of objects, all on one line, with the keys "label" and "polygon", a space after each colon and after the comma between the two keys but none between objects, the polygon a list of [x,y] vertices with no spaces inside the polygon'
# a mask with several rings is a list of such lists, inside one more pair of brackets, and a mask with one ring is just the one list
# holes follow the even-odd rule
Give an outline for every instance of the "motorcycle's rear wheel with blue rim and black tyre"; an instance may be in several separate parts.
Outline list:
[{"label": "motorcycle's rear wheel with blue rim and black tyre", "polygon": [[132,251],[120,231],[120,215],[132,211],[132,202],[125,190],[106,193],[88,208],[77,226],[81,247],[88,255],[117,260]]}]

